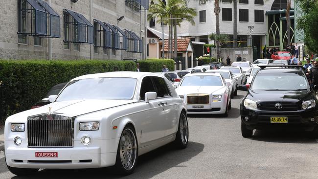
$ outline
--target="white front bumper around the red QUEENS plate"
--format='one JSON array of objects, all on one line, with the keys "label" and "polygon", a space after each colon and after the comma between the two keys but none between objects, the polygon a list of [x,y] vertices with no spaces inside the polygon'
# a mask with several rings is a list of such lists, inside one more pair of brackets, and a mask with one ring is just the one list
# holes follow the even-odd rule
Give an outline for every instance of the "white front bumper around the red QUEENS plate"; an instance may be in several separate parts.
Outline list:
[{"label": "white front bumper around the red QUEENS plate", "polygon": [[[105,151],[105,146],[118,144],[119,139],[92,141],[91,146],[83,146],[74,141],[71,148],[28,148],[14,146],[5,141],[7,165],[16,168],[79,169],[113,166],[116,152]],[[107,151],[107,149],[106,149]],[[35,152],[57,152],[58,157],[35,157]]]}]

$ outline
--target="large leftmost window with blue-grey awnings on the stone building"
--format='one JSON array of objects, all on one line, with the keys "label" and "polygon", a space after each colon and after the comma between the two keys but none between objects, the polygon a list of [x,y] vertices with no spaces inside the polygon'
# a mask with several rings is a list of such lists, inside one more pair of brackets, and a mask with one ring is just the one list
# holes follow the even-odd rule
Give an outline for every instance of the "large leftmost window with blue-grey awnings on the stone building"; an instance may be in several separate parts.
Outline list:
[{"label": "large leftmost window with blue-grey awnings on the stone building", "polygon": [[60,38],[60,16],[43,0],[18,0],[18,34]]}]

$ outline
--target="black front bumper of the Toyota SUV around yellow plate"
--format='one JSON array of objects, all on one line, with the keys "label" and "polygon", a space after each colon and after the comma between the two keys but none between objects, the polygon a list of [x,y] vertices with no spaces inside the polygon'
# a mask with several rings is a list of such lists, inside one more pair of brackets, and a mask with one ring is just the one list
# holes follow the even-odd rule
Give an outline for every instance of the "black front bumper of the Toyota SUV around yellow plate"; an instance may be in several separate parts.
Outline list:
[{"label": "black front bumper of the Toyota SUV around yellow plate", "polygon": [[[249,120],[246,120],[248,117]],[[271,123],[271,117],[288,117],[287,124]],[[315,118],[311,121],[311,118]],[[313,110],[302,110],[297,112],[260,111],[249,110],[241,107],[241,120],[247,129],[303,129],[313,131],[318,125],[318,112]]]}]

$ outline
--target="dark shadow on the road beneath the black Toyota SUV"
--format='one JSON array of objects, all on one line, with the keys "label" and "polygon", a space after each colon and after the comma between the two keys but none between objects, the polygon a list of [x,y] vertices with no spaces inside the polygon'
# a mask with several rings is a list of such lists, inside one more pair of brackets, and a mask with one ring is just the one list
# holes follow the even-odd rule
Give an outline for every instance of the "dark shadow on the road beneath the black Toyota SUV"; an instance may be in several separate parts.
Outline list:
[{"label": "dark shadow on the road beneath the black Toyota SUV", "polygon": [[299,130],[256,130],[252,140],[276,143],[303,143],[317,144],[317,140],[311,137],[309,132]]}]

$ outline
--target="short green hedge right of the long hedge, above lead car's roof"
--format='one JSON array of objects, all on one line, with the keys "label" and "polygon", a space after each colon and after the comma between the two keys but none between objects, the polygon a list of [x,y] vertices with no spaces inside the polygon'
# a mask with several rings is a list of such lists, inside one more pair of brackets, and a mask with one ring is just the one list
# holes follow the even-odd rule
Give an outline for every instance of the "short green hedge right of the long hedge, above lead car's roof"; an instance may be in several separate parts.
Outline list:
[{"label": "short green hedge right of the long hedge, above lead car's roof", "polygon": [[160,72],[163,65],[170,71],[175,70],[175,62],[171,59],[147,59],[137,61],[141,71]]}]

